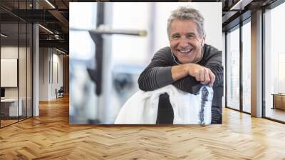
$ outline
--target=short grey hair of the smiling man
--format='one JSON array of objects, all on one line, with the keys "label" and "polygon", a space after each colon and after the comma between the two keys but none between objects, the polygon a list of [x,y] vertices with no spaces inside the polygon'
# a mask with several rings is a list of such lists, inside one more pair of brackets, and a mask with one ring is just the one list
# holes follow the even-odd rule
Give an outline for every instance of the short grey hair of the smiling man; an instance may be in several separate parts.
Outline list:
[{"label": "short grey hair of the smiling man", "polygon": [[193,20],[198,26],[199,36],[206,36],[204,31],[204,17],[197,9],[192,9],[189,6],[180,6],[171,12],[170,17],[167,19],[167,35],[170,39],[170,24],[174,19],[179,20]]}]

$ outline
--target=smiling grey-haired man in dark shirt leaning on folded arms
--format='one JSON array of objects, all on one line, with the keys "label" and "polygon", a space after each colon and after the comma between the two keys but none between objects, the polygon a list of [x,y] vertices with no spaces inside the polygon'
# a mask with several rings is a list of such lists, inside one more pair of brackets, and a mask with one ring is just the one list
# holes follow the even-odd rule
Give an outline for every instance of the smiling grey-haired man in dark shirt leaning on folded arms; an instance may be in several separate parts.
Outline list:
[{"label": "smiling grey-haired man in dark shirt leaning on folded arms", "polygon": [[[138,79],[142,91],[153,91],[173,84],[182,91],[195,94],[197,84],[214,89],[212,124],[222,124],[223,66],[222,51],[205,44],[204,18],[196,9],[180,6],[167,20],[170,47],[160,49]],[[167,95],[160,96],[169,101]],[[157,124],[171,123],[172,108],[158,109]],[[166,119],[166,120],[165,120]]]}]

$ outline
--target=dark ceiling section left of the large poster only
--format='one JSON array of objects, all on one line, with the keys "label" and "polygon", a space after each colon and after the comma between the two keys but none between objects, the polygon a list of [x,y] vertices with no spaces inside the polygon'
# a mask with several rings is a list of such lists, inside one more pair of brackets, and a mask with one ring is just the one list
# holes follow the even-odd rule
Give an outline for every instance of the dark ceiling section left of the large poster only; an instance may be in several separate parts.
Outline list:
[{"label": "dark ceiling section left of the large poster only", "polygon": [[68,53],[70,1],[49,0],[48,2],[1,0],[1,33],[9,35],[6,39],[1,37],[1,43],[11,45],[18,43],[19,39],[21,45],[21,41],[26,41],[26,36],[31,36],[31,31],[26,31],[28,28],[26,24],[38,23],[41,24],[39,26],[40,47],[56,47]]}]

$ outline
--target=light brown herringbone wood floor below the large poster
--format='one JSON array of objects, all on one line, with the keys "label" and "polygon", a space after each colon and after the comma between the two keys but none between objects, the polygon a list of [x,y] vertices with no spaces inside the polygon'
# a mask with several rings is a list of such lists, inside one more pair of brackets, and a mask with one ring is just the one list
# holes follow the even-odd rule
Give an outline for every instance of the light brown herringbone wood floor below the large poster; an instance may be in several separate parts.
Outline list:
[{"label": "light brown herringbone wood floor below the large poster", "polygon": [[224,109],[222,125],[70,126],[68,98],[0,129],[0,159],[285,159],[285,125]]}]

